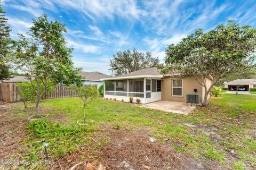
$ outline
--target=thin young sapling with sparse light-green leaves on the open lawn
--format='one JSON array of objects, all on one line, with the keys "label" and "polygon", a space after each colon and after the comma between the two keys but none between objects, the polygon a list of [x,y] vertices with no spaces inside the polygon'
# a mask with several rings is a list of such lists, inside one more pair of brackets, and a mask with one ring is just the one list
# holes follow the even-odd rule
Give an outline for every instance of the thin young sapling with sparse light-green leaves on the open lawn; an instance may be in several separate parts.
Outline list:
[{"label": "thin young sapling with sparse light-green leaves on the open lawn", "polygon": [[76,87],[75,91],[81,100],[83,101],[83,113],[84,113],[84,122],[85,122],[85,107],[87,104],[98,99],[97,88],[93,85],[86,87],[85,85]]}]

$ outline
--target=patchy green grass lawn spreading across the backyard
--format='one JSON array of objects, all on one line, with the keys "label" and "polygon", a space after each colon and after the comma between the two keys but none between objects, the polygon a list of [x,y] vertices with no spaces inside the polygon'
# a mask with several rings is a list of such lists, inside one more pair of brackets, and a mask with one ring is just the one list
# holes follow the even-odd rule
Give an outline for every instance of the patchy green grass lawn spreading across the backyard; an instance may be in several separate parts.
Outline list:
[{"label": "patchy green grass lawn spreading across the backyard", "polygon": [[[34,104],[29,104],[28,109],[22,107],[21,103],[13,104],[3,120],[20,121],[34,114]],[[77,156],[76,161],[94,159],[105,151],[114,129],[122,131],[123,136],[139,132],[143,137],[145,134],[154,137],[164,147],[209,166],[214,163],[225,169],[256,168],[256,96],[253,95],[222,94],[221,98],[211,99],[210,107],[198,108],[188,116],[99,99],[86,108],[88,125],[85,126],[76,123],[83,120],[78,98],[43,100],[41,109],[50,114],[49,118],[25,124],[27,136],[10,159],[41,160],[44,139],[49,143],[50,156],[60,162],[70,155]],[[76,155],[77,152],[83,154]],[[97,161],[100,160],[98,157]],[[35,165],[22,165],[29,166]],[[58,169],[58,163],[55,166],[52,168]]]}]

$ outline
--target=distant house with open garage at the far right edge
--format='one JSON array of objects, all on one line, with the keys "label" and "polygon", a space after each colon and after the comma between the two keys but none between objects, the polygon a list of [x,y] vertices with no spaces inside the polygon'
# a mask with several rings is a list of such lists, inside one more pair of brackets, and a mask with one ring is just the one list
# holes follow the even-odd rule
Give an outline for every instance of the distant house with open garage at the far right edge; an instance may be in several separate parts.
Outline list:
[{"label": "distant house with open garage at the far right edge", "polygon": [[256,79],[237,79],[224,83],[228,90],[249,91],[250,88],[256,88]]}]

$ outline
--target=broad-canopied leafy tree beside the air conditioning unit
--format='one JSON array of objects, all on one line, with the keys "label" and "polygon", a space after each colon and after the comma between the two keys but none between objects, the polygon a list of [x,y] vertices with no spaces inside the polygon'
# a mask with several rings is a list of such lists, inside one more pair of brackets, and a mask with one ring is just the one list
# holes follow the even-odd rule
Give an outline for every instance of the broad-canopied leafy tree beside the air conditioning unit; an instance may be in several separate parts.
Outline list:
[{"label": "broad-canopied leafy tree beside the air conditioning unit", "polygon": [[[256,29],[229,21],[206,33],[196,30],[179,44],[169,45],[159,68],[162,73],[177,70],[181,77],[194,76],[205,89],[206,106],[207,96],[220,79],[255,67],[255,47]],[[209,89],[207,79],[211,80]]]}]

